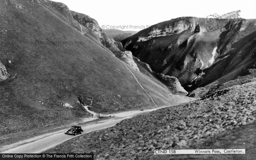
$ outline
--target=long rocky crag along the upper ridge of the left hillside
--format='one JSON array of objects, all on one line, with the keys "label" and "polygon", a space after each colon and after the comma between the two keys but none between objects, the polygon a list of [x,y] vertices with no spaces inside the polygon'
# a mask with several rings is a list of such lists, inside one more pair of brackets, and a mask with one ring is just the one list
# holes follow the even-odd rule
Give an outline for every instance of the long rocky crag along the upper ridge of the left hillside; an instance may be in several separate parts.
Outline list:
[{"label": "long rocky crag along the upper ridge of the left hillside", "polygon": [[132,59],[132,53],[130,51],[121,51],[124,50],[123,46],[120,45],[121,43],[114,41],[113,38],[109,38],[103,32],[101,27],[99,27],[99,24],[95,19],[88,15],[80,14],[74,11],[71,11],[71,14],[76,21],[88,29],[90,35],[100,41],[105,47],[110,49],[117,58],[120,58],[122,61],[129,64],[133,69],[139,71],[138,66]]}]

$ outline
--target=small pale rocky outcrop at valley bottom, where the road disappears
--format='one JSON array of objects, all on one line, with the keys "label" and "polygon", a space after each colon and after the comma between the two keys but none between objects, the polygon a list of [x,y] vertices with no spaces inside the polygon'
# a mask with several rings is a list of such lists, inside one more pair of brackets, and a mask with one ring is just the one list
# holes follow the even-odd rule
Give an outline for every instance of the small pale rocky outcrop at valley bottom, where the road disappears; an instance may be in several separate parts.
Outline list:
[{"label": "small pale rocky outcrop at valley bottom, where the road disappears", "polygon": [[164,74],[157,74],[159,79],[163,81],[174,92],[180,93],[180,94],[188,94],[188,92],[181,86],[180,82],[176,77],[173,76],[166,76]]}]

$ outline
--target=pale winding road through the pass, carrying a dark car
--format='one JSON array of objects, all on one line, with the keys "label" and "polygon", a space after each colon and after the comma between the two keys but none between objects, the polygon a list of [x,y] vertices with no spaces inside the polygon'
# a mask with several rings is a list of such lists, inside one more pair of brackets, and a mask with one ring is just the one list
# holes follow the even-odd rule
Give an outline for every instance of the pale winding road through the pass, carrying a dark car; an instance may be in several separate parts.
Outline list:
[{"label": "pale winding road through the pass, carrying a dark car", "polygon": [[[180,103],[186,103],[191,100],[194,100],[193,98],[178,96],[178,95],[177,95],[177,98],[182,99],[182,102],[180,102]],[[177,105],[177,103],[175,103],[173,105]],[[84,130],[84,132],[82,134],[86,134],[86,133],[93,132],[96,130],[105,129],[108,127],[112,127],[112,126],[116,125],[118,122],[122,121],[123,119],[131,118],[138,114],[155,111],[160,108],[171,107],[173,105],[162,106],[162,107],[148,109],[148,110],[144,110],[144,111],[134,110],[134,111],[125,111],[125,112],[116,113],[116,114],[109,114],[109,115],[112,115],[113,118],[105,119],[105,120],[98,121],[98,122],[93,122],[93,121],[91,121],[91,120],[93,120],[93,118],[88,118],[88,121],[89,122],[91,121],[91,123],[87,123],[85,125],[80,125],[80,126],[82,126],[82,129]],[[109,116],[109,115],[105,115],[105,116]],[[36,136],[33,138],[29,138],[27,140],[16,142],[14,144],[2,146],[0,148],[0,152],[1,153],[41,153],[50,148],[53,148],[54,146],[57,146],[57,145],[65,142],[67,140],[70,140],[74,137],[81,135],[81,134],[78,134],[76,136],[67,135],[67,134],[64,134],[65,131],[67,131],[67,129],[62,129],[62,130],[59,130],[56,132],[42,134],[40,136]]]}]

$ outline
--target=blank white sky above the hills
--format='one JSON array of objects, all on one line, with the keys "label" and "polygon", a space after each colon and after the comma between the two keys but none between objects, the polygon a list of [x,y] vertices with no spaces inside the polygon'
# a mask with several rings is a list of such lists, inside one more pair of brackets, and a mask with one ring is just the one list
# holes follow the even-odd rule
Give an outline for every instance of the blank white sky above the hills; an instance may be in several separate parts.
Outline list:
[{"label": "blank white sky above the hills", "polygon": [[104,29],[139,31],[182,16],[206,18],[240,10],[240,17],[256,18],[255,0],[52,0],[89,15]]}]

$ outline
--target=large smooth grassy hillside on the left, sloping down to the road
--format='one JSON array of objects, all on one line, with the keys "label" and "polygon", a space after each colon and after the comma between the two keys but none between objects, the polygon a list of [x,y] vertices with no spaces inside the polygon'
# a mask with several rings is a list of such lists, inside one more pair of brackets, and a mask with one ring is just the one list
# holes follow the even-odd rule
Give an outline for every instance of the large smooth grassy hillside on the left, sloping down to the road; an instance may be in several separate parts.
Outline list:
[{"label": "large smooth grassy hillside on the left, sloping down to the road", "polygon": [[3,0],[0,22],[0,134],[90,116],[78,96],[98,113],[179,100],[116,58],[62,3]]}]

